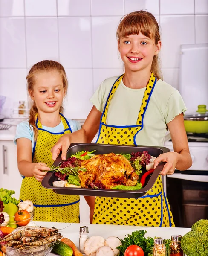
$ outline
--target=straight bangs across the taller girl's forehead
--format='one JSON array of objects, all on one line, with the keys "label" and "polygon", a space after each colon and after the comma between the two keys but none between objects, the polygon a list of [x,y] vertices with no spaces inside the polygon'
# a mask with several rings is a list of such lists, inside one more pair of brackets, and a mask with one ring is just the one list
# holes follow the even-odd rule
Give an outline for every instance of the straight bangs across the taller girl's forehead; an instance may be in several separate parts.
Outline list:
[{"label": "straight bangs across the taller girl's forehead", "polygon": [[147,36],[150,39],[153,39],[155,32],[153,31],[154,24],[151,20],[141,19],[138,22],[138,18],[130,19],[124,18],[118,26],[117,37],[118,39],[126,38],[129,35],[142,35]]}]

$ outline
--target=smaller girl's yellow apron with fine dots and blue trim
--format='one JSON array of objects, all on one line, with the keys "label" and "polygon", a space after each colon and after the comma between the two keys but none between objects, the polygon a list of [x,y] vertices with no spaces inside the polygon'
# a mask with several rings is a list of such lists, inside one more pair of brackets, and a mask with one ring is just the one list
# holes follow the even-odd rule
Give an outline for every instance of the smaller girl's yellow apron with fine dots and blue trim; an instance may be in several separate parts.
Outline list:
[{"label": "smaller girl's yellow apron with fine dots and blue trim", "polygon": [[[64,125],[64,131],[61,133],[43,130],[40,121],[36,118],[38,138],[32,151],[32,163],[43,162],[49,167],[52,166],[51,148],[63,134],[72,132],[69,122],[61,113],[60,116]],[[23,177],[20,200],[26,199],[31,200],[35,206],[34,221],[80,222],[78,195],[59,195],[52,189],[43,188],[35,177]]]}]

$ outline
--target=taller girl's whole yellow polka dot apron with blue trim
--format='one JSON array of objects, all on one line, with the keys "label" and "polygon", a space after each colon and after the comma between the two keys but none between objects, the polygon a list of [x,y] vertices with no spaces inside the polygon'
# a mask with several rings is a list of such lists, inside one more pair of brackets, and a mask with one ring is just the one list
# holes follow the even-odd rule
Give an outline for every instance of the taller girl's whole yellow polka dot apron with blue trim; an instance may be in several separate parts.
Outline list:
[{"label": "taller girl's whole yellow polka dot apron with blue trim", "polygon": [[[136,125],[113,126],[107,125],[107,111],[109,102],[118,88],[121,75],[113,84],[101,116],[98,140],[101,144],[135,145],[136,135],[143,128],[144,115],[147,110],[150,97],[156,84],[156,77],[151,73],[142,99],[142,105],[138,114]],[[93,215],[94,224],[117,224],[152,227],[173,227],[173,216],[170,205],[165,197],[162,180],[159,175],[153,188],[141,198],[104,198],[97,197]]]}]

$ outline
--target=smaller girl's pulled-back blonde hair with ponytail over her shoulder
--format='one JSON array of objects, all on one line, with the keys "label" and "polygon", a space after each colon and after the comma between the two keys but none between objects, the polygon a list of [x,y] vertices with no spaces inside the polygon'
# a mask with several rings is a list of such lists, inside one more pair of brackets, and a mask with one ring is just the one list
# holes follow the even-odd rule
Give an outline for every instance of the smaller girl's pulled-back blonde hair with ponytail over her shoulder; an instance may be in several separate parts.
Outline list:
[{"label": "smaller girl's pulled-back blonde hair with ponytail over her shoulder", "polygon": [[[43,72],[50,72],[50,71],[58,71],[58,73],[60,74],[60,76],[62,78],[62,81],[64,84],[64,91],[65,91],[65,95],[66,95],[67,88],[68,88],[68,81],[66,78],[66,72],[64,70],[64,67],[56,61],[48,61],[48,60],[40,61],[40,62],[36,63],[29,70],[29,73],[26,77],[27,90],[28,90],[29,95],[31,95],[31,93],[33,92],[37,74],[43,73]],[[63,110],[64,109],[61,106],[59,111],[61,113],[63,113]],[[35,125],[35,116],[37,113],[38,113],[38,108],[35,104],[35,101],[32,101],[32,107],[30,108],[30,111],[29,111],[29,124],[32,125],[32,127],[34,129],[34,139],[35,140],[37,140],[37,138],[38,138],[38,128]]]}]

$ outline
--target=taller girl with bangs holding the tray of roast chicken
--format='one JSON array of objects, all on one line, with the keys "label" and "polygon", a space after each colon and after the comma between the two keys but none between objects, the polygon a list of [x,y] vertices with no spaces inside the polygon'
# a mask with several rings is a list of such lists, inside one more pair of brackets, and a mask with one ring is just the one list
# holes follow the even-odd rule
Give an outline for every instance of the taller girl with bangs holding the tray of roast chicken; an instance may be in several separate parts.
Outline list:
[{"label": "taller girl with bangs holding the tray of roast chicken", "polygon": [[[72,142],[90,142],[98,129],[97,143],[147,146],[163,146],[169,129],[174,152],[159,155],[154,169],[161,161],[162,175],[188,169],[192,162],[183,120],[186,108],[179,92],[161,79],[155,17],[145,11],[126,15],[117,38],[125,73],[102,82],[82,129],[64,135],[52,149],[53,158],[60,149],[64,158]],[[161,177],[142,198],[96,198],[93,223],[174,227]]]}]

